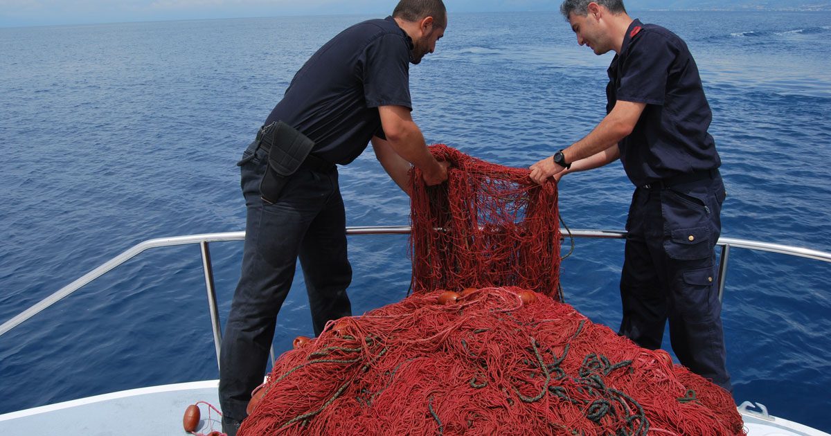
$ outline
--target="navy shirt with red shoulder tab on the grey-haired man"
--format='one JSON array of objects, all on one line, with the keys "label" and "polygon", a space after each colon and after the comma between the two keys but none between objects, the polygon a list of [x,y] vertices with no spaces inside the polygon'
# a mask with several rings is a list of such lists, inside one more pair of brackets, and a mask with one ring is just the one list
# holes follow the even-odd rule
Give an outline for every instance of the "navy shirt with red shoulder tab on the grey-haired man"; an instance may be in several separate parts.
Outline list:
[{"label": "navy shirt with red shoulder tab on the grey-haired man", "polygon": [[718,168],[712,120],[696,61],[676,34],[635,20],[608,69],[607,112],[617,100],[646,103],[632,134],[618,143],[636,186]]}]

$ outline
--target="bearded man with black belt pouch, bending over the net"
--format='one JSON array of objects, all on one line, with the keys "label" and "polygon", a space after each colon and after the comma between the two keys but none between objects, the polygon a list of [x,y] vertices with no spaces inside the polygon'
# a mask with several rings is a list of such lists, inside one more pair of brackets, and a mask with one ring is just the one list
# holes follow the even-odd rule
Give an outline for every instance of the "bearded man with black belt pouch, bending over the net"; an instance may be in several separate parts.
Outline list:
[{"label": "bearded man with black belt pouch, bending over the net", "polygon": [[[401,0],[391,17],[347,28],[297,71],[245,150],[239,162],[247,207],[242,277],[220,353],[224,433],[236,434],[252,389],[263,382],[297,257],[315,335],[327,321],[352,315],[336,164],[349,164],[371,141],[401,189],[411,164],[426,184],[447,179],[447,164],[430,154],[411,118],[409,86],[409,64],[433,52],[445,27],[441,0]],[[294,169],[293,162],[302,163]]]}]

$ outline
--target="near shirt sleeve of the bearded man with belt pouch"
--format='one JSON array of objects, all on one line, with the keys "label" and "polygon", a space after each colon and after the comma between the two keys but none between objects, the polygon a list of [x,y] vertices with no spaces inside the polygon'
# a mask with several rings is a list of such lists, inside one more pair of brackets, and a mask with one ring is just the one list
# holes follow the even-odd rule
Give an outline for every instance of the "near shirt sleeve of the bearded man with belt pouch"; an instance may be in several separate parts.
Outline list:
[{"label": "near shirt sleeve of the bearded man with belt pouch", "polygon": [[397,105],[412,110],[410,50],[403,37],[390,33],[370,42],[362,76],[367,107]]}]

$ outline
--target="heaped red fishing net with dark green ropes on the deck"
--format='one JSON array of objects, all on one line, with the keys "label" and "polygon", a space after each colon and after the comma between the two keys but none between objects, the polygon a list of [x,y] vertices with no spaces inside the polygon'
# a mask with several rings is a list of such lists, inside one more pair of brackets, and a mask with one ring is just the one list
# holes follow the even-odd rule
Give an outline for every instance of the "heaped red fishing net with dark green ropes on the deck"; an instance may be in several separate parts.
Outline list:
[{"label": "heaped red fishing net with dark green ropes on the deck", "polygon": [[527,292],[330,322],[280,357],[239,434],[743,434],[724,389]]}]

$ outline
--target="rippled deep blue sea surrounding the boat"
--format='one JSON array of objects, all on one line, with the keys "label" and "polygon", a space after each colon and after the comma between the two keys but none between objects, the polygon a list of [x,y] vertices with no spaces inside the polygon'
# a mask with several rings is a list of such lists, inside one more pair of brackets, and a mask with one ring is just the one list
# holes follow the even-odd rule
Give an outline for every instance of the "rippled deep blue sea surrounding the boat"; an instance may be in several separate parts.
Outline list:
[{"label": "rippled deep blue sea surrounding the boat", "polygon": [[[831,12],[632,16],[680,35],[701,70],[728,191],[722,236],[831,252]],[[302,62],[365,18],[0,28],[0,322],[138,242],[243,230],[235,162]],[[578,47],[557,12],[451,14],[411,67],[413,115],[430,143],[525,167],[602,119],[611,60]],[[409,223],[371,151],[340,173],[348,225]],[[623,228],[632,185],[619,163],[559,189],[570,228]],[[406,242],[350,239],[356,314],[406,296]],[[617,330],[623,244],[575,243],[566,299]],[[224,320],[242,242],[211,250]],[[312,334],[301,276],[278,352]],[[829,277],[824,262],[731,252],[737,403],[831,431]],[[0,337],[0,414],[217,377],[195,246],[145,252]]]}]

